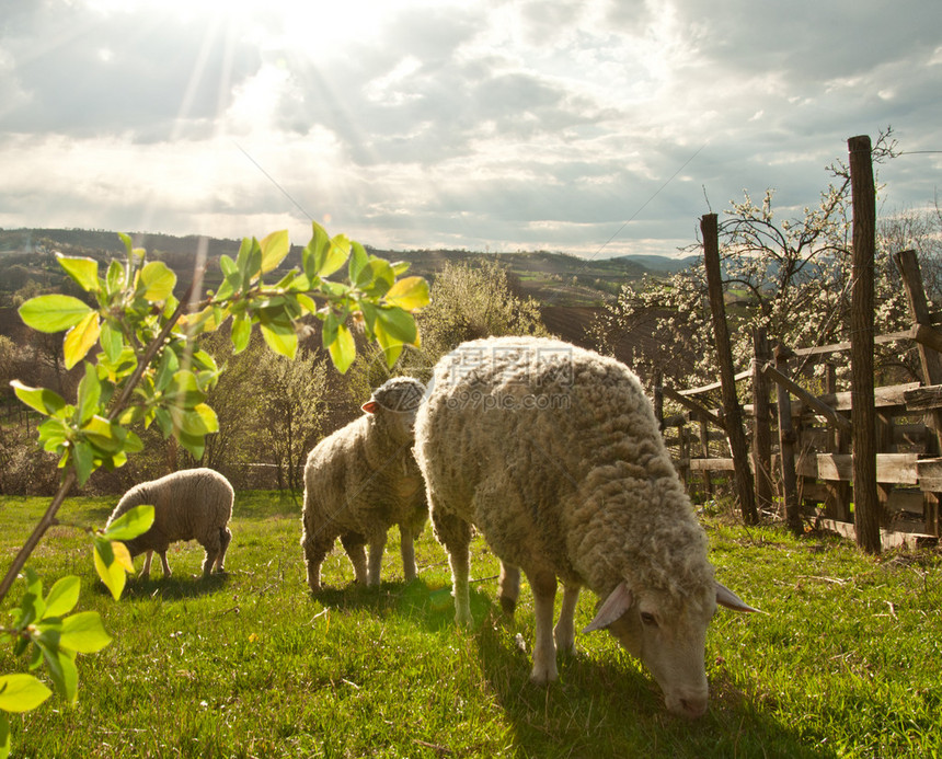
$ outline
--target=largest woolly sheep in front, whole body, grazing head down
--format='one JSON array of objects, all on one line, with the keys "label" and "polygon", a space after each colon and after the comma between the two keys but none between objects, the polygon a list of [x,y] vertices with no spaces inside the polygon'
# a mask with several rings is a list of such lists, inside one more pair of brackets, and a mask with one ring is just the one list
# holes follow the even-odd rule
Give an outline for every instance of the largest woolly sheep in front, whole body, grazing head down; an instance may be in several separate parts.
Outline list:
[{"label": "largest woolly sheep in front, whole body, grazing head down", "polygon": [[[716,603],[755,611],[713,578],[706,539],[652,405],[624,365],[566,343],[463,343],[435,367],[415,423],[435,534],[448,551],[456,620],[471,623],[475,526],[502,562],[513,612],[520,570],[536,611],[531,680],[554,680],[574,651],[579,588],[606,599],[608,628],[686,716],[706,710],[706,624]],[[556,578],[563,583],[553,623]]]}]

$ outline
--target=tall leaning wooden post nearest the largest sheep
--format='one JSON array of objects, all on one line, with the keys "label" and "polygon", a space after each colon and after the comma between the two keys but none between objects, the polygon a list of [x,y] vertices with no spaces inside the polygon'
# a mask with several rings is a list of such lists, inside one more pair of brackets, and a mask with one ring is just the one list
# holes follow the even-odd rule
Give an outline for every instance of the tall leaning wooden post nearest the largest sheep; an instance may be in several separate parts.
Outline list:
[{"label": "tall leaning wooden post nearest the largest sheep", "polygon": [[715,214],[705,214],[700,219],[700,231],[703,234],[703,262],[706,268],[710,311],[713,318],[713,333],[716,338],[716,354],[720,363],[723,416],[726,421],[726,435],[730,438],[730,449],[733,453],[736,496],[743,511],[743,521],[747,525],[756,525],[759,521],[759,515],[756,510],[756,493],[753,488],[749,451],[746,446],[746,435],[743,432],[743,413],[736,398],[733,352],[730,347],[726,307],[723,302],[723,278],[720,272],[720,231]]}]

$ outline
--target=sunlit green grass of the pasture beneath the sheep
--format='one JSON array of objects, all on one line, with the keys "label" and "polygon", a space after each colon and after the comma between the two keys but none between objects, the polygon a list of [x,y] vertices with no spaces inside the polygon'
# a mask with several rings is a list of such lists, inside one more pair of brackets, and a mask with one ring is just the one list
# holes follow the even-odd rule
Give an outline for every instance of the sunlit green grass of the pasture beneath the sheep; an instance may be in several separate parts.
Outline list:
[{"label": "sunlit green grass of the pasture beneath the sheep", "polygon": [[[62,518],[101,525],[113,502]],[[43,499],[0,498],[9,561]],[[18,757],[938,757],[942,755],[942,559],[861,555],[831,539],[706,524],[717,577],[766,614],[717,613],[706,644],[711,710],[669,715],[650,676],[607,634],[578,635],[550,688],[529,685],[532,601],[495,603],[497,563],[474,544],[476,626],[451,622],[444,551],[426,530],[402,582],[390,533],[379,589],[352,585],[337,550],[313,599],[300,509],[240,493],[228,575],[195,579],[202,549],[171,548],[174,576],[133,579],[115,602],[91,550],[57,527],[31,565],[45,586],[82,578],[80,609],[114,642],[79,658],[79,701],[13,715]],[[138,557],[137,565],[142,562]],[[19,593],[19,589],[16,590]],[[15,595],[15,594],[14,594]],[[595,599],[585,594],[577,624]],[[23,670],[9,649],[0,671]]]}]

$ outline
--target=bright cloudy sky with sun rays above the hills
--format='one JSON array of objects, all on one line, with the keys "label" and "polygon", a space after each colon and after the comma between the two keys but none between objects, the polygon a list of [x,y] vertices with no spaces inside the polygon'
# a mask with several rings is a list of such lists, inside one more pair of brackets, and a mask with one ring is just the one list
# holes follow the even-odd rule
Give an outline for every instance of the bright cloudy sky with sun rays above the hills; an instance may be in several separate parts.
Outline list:
[{"label": "bright cloudy sky with sun rays above the hills", "polygon": [[0,227],[671,254],[892,125],[942,176],[942,2],[0,0]]}]

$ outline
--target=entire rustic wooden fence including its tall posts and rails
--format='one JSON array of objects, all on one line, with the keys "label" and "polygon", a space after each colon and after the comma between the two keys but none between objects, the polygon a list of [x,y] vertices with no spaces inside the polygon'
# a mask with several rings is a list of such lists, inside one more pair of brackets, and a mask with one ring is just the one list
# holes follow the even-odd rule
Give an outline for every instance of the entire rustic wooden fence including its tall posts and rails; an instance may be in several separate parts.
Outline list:
[{"label": "entire rustic wooden fence including its tall posts and rails", "polygon": [[[715,214],[700,221],[703,261],[716,341],[720,382],[689,390],[660,388],[688,410],[678,426],[679,469],[690,484],[698,473],[709,493],[717,472],[728,475],[747,524],[776,503],[789,526],[799,532],[813,514],[827,526],[852,533],[863,550],[878,552],[898,542],[899,530],[937,539],[942,499],[942,320],[929,312],[919,262],[912,251],[895,258],[909,301],[912,326],[904,333],[874,335],[875,188],[871,141],[848,140],[853,205],[851,248],[851,308],[849,343],[769,350],[766,335],[754,335],[755,354],[748,371],[734,373],[723,298]],[[915,341],[921,381],[874,387],[874,347],[881,342]],[[850,353],[849,392],[837,392],[835,371],[828,371],[825,393],[815,395],[789,375],[794,357]],[[751,379],[753,404],[740,406],[737,383]],[[771,402],[774,389],[776,400]],[[722,412],[705,401],[720,390]],[[655,407],[662,407],[655,398]],[[692,413],[690,413],[692,412]],[[778,427],[778,452],[772,457],[772,413]],[[668,426],[664,419],[665,426]],[[696,423],[696,436],[688,423]],[[712,457],[711,425],[719,427],[728,457]],[[746,430],[751,430],[751,440]],[[693,437],[697,438],[696,449]],[[699,455],[698,455],[699,453]],[[778,502],[774,490],[779,491]],[[852,520],[852,524],[851,524]],[[916,533],[911,528],[921,527]],[[895,538],[895,539],[894,539]]]}]

